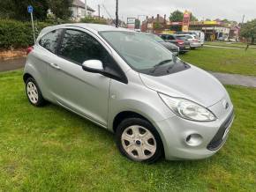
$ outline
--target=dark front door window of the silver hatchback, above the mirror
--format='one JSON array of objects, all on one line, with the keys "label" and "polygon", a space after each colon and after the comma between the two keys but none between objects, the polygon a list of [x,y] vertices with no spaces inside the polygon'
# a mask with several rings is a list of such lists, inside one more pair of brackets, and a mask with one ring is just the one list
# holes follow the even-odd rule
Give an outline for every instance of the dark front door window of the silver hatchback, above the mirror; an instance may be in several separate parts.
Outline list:
[{"label": "dark front door window of the silver hatchback, above the mirror", "polygon": [[91,59],[100,60],[104,63],[108,57],[108,52],[89,34],[67,29],[58,55],[79,64]]}]

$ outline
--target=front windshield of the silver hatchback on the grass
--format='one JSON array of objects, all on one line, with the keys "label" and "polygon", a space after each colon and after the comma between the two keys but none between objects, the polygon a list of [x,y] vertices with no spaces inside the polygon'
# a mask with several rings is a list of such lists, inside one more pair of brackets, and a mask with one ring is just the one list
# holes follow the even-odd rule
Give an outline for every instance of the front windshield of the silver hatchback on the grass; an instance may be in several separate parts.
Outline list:
[{"label": "front windshield of the silver hatchback on the grass", "polygon": [[174,64],[172,53],[145,34],[127,31],[100,34],[134,70],[148,73]]}]

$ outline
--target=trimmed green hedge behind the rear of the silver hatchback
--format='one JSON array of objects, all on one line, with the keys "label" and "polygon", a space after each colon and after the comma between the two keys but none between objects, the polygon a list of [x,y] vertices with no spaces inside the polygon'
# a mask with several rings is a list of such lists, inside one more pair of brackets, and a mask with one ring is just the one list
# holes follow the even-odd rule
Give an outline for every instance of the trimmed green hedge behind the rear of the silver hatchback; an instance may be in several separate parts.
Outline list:
[{"label": "trimmed green hedge behind the rear of the silver hatchback", "polygon": [[[35,37],[41,29],[52,24],[34,22]],[[34,44],[31,22],[0,19],[0,48],[27,48]]]}]

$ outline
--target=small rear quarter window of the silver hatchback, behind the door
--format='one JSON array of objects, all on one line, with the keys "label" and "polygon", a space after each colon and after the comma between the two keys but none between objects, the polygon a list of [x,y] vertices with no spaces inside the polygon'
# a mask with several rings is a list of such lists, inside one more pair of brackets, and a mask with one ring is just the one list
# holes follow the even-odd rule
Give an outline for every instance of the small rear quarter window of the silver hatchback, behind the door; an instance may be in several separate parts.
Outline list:
[{"label": "small rear quarter window of the silver hatchback, behind the door", "polygon": [[55,53],[57,41],[60,38],[61,32],[62,30],[58,29],[45,34],[44,36],[42,36],[39,44],[41,45],[41,47],[46,48],[52,53]]}]

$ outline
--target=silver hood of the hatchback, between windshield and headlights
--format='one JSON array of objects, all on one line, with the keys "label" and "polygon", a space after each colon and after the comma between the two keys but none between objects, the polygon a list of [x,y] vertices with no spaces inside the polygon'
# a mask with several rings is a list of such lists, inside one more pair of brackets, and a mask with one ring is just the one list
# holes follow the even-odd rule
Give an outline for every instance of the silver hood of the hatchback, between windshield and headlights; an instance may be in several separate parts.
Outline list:
[{"label": "silver hood of the hatchback, between windshield and headlights", "polygon": [[139,73],[144,85],[171,97],[192,100],[204,107],[213,106],[226,95],[223,85],[211,74],[192,66],[188,70],[153,77]]}]

